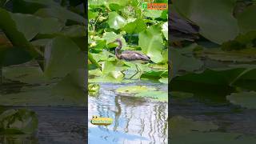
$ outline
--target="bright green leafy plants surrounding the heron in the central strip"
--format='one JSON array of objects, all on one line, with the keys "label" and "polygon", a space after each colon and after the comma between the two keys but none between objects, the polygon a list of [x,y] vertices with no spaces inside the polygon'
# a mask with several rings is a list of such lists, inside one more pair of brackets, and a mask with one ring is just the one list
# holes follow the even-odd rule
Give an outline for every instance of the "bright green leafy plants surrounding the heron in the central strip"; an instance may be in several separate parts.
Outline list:
[{"label": "bright green leafy plants surrounding the heron in the central strip", "polygon": [[[167,10],[152,12],[141,5],[138,0],[89,1],[89,82],[168,77]],[[141,51],[154,63],[119,60],[114,55],[116,38],[122,40],[122,50]]]}]

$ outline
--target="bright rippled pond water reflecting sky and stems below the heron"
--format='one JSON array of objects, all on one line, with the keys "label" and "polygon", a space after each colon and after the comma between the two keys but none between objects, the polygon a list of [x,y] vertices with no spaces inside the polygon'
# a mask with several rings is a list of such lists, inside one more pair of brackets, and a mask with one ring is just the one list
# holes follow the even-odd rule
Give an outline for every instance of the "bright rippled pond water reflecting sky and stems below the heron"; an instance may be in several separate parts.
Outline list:
[{"label": "bright rippled pond water reflecting sky and stems below the heron", "polygon": [[[154,86],[168,90],[166,84],[151,82],[100,84],[99,95],[88,98],[89,143],[167,143],[168,103],[116,94],[114,90],[122,86]],[[114,121],[110,126],[92,125],[93,115]]]}]

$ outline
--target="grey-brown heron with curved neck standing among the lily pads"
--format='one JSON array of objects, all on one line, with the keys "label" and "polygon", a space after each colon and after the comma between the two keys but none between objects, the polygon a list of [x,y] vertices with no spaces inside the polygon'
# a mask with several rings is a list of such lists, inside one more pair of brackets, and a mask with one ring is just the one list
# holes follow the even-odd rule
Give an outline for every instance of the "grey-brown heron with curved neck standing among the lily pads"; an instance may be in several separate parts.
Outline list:
[{"label": "grey-brown heron with curved neck standing among the lily pads", "polygon": [[[140,61],[140,62],[151,62],[150,57],[147,56],[146,54],[142,54],[138,51],[133,51],[133,50],[124,50],[122,53],[120,53],[120,50],[122,49],[122,40],[120,38],[117,38],[114,42],[118,42],[118,46],[114,50],[114,54],[116,58],[118,59],[123,59],[125,61]],[[138,72],[141,72],[141,69],[138,68],[138,65],[134,63],[136,69]],[[140,70],[138,70],[140,69]],[[133,78],[136,74],[132,75],[130,78]]]}]

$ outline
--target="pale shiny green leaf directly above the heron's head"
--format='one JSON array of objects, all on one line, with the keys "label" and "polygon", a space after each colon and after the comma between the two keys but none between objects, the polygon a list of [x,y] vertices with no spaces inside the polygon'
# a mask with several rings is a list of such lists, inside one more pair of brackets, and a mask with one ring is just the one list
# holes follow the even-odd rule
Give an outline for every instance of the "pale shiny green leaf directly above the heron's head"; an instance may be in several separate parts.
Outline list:
[{"label": "pale shiny green leaf directly above the heron's head", "polygon": [[126,25],[126,19],[113,11],[109,14],[108,24],[110,25],[110,28],[118,30]]}]

